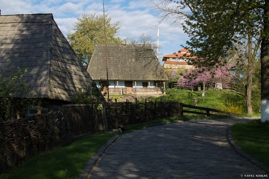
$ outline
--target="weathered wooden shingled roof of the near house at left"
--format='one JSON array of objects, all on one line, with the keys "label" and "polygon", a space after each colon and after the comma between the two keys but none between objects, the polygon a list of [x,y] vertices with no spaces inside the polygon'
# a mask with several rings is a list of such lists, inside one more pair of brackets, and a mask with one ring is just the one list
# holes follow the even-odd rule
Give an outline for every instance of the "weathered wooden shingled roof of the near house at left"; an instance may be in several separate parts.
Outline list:
[{"label": "weathered wooden shingled roof of the near house at left", "polygon": [[91,78],[52,14],[0,16],[0,74],[27,67],[22,78],[37,97],[70,101]]}]

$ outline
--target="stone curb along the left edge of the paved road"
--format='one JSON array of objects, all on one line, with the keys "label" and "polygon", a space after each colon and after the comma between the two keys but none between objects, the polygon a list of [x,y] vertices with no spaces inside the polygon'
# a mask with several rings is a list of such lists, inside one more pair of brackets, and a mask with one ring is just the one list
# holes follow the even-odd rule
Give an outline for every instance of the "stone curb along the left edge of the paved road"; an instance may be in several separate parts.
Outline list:
[{"label": "stone curb along the left edge of the paved road", "polygon": [[100,147],[98,151],[96,152],[96,154],[90,157],[90,160],[86,163],[83,172],[80,174],[80,176],[77,179],[87,179],[93,165],[97,162],[97,160],[100,157],[102,157],[103,153],[107,150],[107,148],[109,148],[109,146],[111,146],[112,143],[114,143],[118,138],[119,138],[119,135],[115,135],[111,139],[109,139],[105,145]]}]

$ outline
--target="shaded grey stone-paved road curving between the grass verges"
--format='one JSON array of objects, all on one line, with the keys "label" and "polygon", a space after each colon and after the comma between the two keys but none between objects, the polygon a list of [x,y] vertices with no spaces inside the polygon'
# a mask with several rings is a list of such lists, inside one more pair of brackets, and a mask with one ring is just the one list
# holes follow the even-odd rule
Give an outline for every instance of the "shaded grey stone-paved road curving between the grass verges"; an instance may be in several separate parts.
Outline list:
[{"label": "shaded grey stone-paved road curving between the grass verges", "polygon": [[88,179],[259,178],[266,173],[227,142],[227,127],[243,120],[193,120],[123,134],[97,160]]}]

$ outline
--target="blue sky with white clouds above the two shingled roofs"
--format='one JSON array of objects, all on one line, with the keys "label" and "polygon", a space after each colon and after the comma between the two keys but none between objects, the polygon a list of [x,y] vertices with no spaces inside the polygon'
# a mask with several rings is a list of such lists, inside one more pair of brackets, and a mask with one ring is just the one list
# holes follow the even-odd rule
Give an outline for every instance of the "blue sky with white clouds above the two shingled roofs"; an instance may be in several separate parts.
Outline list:
[{"label": "blue sky with white clouds above the two shingled roofs", "polygon": [[[103,14],[103,0],[0,0],[0,9],[1,15],[52,13],[67,36],[83,13]],[[158,12],[151,0],[105,0],[105,13],[112,17],[112,22],[120,22],[118,37],[122,39],[137,39],[144,33],[157,41],[159,29],[160,60],[163,55],[178,52],[188,39],[180,26],[172,25],[172,19],[157,26]]]}]

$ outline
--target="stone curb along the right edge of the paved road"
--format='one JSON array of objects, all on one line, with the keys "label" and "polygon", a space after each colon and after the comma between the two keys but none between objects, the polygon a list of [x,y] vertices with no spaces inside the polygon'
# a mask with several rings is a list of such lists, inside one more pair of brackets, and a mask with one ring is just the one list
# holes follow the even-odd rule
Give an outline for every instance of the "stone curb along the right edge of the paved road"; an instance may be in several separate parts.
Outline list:
[{"label": "stone curb along the right edge of the paved road", "polygon": [[229,145],[231,146],[231,148],[237,153],[239,154],[241,157],[245,158],[247,161],[249,161],[251,164],[253,164],[254,166],[258,167],[259,169],[263,170],[264,172],[266,172],[267,174],[269,174],[269,167],[266,166],[265,164],[259,162],[257,159],[250,157],[248,154],[246,154],[245,152],[243,152],[241,150],[240,147],[238,147],[238,145],[235,144],[235,141],[232,138],[232,131],[231,131],[231,127],[227,128],[227,141],[229,143]]}]

